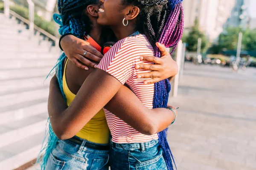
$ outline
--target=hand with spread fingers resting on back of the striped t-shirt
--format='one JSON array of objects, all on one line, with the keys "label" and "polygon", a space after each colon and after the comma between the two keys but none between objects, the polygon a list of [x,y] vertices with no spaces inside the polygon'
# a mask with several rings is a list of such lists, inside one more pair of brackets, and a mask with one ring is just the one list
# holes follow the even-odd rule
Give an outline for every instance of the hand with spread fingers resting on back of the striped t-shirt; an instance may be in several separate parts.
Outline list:
[{"label": "hand with spread fingers resting on back of the striped t-shirt", "polygon": [[156,43],[157,47],[161,51],[161,58],[151,57],[151,56],[142,56],[140,57],[141,61],[154,62],[155,64],[139,64],[136,65],[136,69],[151,70],[151,72],[138,74],[137,78],[151,78],[145,80],[145,84],[152,84],[159,82],[163,79],[169,77],[174,77],[178,73],[178,65],[172,59],[169,51],[163,44],[159,42]]}]

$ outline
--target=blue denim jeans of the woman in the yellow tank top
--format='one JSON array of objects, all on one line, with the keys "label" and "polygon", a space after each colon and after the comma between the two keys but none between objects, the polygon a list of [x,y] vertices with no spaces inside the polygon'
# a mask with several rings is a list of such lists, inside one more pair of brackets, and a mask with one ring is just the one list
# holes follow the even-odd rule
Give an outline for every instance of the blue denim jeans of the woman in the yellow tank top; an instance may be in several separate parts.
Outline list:
[{"label": "blue denim jeans of the woman in the yellow tank top", "polygon": [[[58,140],[45,170],[108,170],[109,150],[95,150],[69,140]],[[94,144],[90,142],[91,144]]]}]

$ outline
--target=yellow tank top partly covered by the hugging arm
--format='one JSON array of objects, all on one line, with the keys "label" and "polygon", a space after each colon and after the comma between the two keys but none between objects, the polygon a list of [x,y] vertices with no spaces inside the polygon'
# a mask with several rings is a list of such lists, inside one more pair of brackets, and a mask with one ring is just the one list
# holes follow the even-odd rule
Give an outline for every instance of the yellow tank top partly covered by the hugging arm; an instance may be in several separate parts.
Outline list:
[{"label": "yellow tank top partly covered by the hugging arm", "polygon": [[[67,59],[68,61],[68,59]],[[64,74],[62,79],[64,94],[66,95],[67,105],[69,106],[75,98],[67,86],[66,80],[66,67],[67,62],[64,67]],[[86,139],[87,141],[98,143],[98,144],[108,144],[109,143],[110,131],[108,129],[108,124],[105,118],[105,113],[100,110],[80,131],[76,136]]]}]

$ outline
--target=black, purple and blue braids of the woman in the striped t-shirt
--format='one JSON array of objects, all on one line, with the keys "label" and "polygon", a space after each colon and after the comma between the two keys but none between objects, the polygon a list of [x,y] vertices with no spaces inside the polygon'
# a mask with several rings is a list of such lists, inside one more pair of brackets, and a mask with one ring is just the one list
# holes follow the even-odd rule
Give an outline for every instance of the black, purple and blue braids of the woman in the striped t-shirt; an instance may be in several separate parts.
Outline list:
[{"label": "black, purple and blue braids of the woman in the striped t-shirt", "polygon": [[[156,42],[173,48],[173,52],[181,39],[184,28],[181,2],[182,0],[123,0],[123,5],[134,5],[140,8],[136,23],[137,30],[146,35],[157,57],[160,57],[160,50],[156,47]],[[170,90],[171,85],[168,79],[155,83],[153,108],[167,107]],[[173,170],[172,161],[174,164],[175,161],[167,142],[167,129],[158,133],[158,137],[167,169]]]}]

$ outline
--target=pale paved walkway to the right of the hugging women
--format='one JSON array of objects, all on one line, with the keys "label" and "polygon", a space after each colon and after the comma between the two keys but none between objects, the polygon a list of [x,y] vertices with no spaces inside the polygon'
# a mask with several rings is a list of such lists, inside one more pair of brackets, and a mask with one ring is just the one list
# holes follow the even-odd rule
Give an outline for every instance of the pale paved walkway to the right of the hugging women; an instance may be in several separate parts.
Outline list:
[{"label": "pale paved walkway to the right of the hugging women", "polygon": [[256,170],[256,69],[185,63],[169,143],[178,170]]}]

